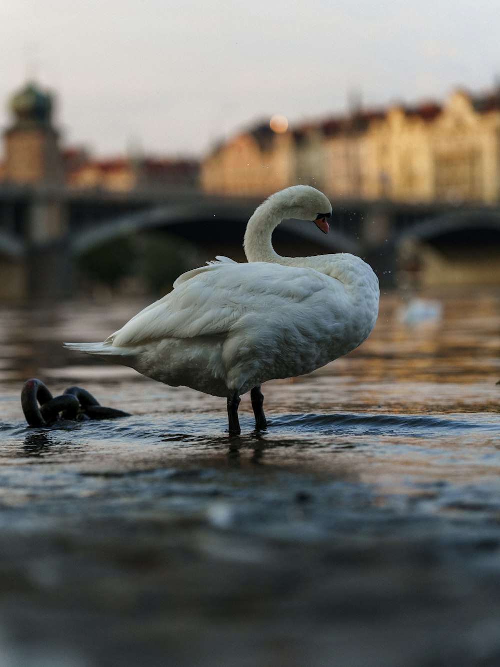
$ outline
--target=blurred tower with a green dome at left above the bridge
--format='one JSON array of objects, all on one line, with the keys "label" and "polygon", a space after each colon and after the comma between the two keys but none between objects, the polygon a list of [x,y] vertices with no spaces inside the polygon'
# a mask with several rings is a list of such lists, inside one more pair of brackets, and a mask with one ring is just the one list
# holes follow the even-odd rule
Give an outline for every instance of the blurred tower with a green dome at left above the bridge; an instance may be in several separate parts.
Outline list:
[{"label": "blurred tower with a green dome at left above the bridge", "polygon": [[28,83],[9,102],[14,122],[5,131],[5,179],[12,183],[63,184],[58,133],[51,122],[53,99]]}]

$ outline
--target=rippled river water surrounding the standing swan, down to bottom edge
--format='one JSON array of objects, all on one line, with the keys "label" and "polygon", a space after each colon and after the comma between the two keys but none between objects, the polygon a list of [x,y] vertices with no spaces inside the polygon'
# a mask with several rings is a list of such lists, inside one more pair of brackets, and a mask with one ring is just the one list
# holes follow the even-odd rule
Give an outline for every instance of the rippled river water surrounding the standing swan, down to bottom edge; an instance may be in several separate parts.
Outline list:
[{"label": "rippled river water surrounding the standing swan, down to bottom edge", "polygon": [[[442,315],[384,295],[362,348],[267,383],[266,432],[244,396],[240,438],[224,400],[61,348],[144,301],[4,309],[5,664],[499,664],[500,294],[422,296]],[[131,416],[27,428],[32,377]]]}]

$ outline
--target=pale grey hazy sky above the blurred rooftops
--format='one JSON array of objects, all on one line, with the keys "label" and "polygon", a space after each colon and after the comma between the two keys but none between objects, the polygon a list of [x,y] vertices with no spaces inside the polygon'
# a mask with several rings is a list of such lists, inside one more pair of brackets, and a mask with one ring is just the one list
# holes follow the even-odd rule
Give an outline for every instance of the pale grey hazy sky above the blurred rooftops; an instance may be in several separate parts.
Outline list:
[{"label": "pale grey hazy sky above the blurred rooftops", "polygon": [[500,81],[499,0],[2,0],[0,126],[29,79],[65,145],[206,155],[290,125]]}]

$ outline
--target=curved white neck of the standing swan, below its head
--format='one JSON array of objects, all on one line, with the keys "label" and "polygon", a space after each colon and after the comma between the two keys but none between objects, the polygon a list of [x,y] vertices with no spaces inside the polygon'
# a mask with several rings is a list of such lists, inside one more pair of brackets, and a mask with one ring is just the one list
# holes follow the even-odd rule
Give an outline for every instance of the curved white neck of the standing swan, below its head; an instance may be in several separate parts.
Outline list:
[{"label": "curved white neck of the standing swan, below its head", "polygon": [[272,247],[271,235],[284,219],[285,211],[269,204],[269,201],[261,204],[246,225],[243,246],[248,261],[280,263],[282,260]]}]

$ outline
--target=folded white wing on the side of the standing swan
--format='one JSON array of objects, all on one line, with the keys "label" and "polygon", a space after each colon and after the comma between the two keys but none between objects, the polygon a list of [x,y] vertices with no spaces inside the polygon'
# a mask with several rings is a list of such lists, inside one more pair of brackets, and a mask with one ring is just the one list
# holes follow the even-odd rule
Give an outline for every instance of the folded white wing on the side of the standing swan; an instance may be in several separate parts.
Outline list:
[{"label": "folded white wing on the side of the standing swan", "polygon": [[160,338],[222,336],[249,313],[286,317],[290,304],[332,288],[314,269],[264,262],[219,263],[188,271],[174,289],[132,317],[107,341],[134,346]]}]

